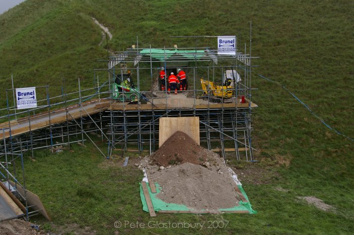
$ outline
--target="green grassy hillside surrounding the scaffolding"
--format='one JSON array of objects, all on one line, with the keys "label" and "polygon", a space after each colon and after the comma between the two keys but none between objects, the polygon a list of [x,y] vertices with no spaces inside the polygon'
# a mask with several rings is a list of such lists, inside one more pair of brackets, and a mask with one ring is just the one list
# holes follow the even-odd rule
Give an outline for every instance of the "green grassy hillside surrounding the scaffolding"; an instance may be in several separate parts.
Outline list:
[{"label": "green grassy hillside surrounding the scaffolding", "polygon": [[[237,34],[241,44],[248,44],[252,21],[252,55],[260,57],[252,79],[252,86],[258,88],[252,97],[259,106],[253,143],[260,163],[252,167],[273,175],[267,183],[244,183],[258,214],[158,219],[231,221],[228,228],[193,230],[194,234],[350,234],[354,230],[354,143],[328,129],[281,86],[256,74],[280,82],[332,127],[353,138],[353,14],[350,1],[27,0],[0,15],[0,105],[6,105],[4,89],[11,88],[12,74],[16,87],[49,84],[51,94],[59,94],[65,77],[68,90],[73,91],[78,77],[81,85],[91,86],[92,69],[101,67],[97,60],[106,58],[107,47],[128,48],[137,36],[140,48],[214,44],[214,39],[172,35]],[[92,17],[112,32],[108,45],[98,45],[101,29]],[[95,151],[86,151],[77,148],[74,154],[56,157],[40,152],[36,162],[26,162],[29,187],[50,211],[51,226],[77,223],[92,226],[98,234],[112,234],[113,222],[119,218],[149,221],[137,195],[140,171],[97,168],[103,159]],[[64,176],[58,177],[60,173]],[[118,177],[118,183],[107,179],[112,177]],[[80,183],[71,181],[75,178]],[[69,189],[68,182],[79,189]],[[85,185],[110,193],[90,195]],[[53,186],[59,190],[49,190]],[[277,186],[288,192],[275,190]],[[113,191],[119,192],[119,200]],[[315,196],[336,210],[321,211],[298,196]],[[121,233],[128,231],[147,234],[142,229]],[[186,230],[149,232],[185,234]]]}]

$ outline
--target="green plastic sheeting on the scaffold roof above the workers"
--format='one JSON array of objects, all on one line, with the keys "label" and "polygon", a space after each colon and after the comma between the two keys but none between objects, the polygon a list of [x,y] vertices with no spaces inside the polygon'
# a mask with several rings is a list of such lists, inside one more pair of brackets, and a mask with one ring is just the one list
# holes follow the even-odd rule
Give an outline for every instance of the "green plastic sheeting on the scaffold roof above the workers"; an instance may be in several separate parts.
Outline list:
[{"label": "green plastic sheeting on the scaffold roof above the workers", "polygon": [[179,56],[184,56],[186,59],[200,59],[202,57],[205,57],[206,54],[203,50],[162,50],[162,49],[143,49],[140,51],[140,54],[144,56],[150,56],[160,60],[164,61],[165,57],[166,59],[170,58],[173,55],[179,55]]}]

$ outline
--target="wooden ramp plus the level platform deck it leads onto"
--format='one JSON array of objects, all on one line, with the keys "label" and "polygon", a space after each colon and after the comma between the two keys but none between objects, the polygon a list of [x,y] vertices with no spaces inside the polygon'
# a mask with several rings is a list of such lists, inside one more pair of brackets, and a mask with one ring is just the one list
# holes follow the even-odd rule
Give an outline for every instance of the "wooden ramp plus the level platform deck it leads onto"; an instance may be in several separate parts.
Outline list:
[{"label": "wooden ramp plus the level platform deck it leads onto", "polygon": [[[182,93],[174,95],[171,93],[166,98],[149,99],[147,104],[129,104],[128,102],[120,103],[117,101],[110,101],[108,99],[95,99],[88,102],[71,105],[67,108],[60,108],[48,112],[38,113],[29,117],[19,118],[10,121],[11,136],[16,136],[36,129],[48,127],[53,124],[66,122],[67,119],[76,119],[85,117],[105,110],[115,111],[138,111],[138,110],[166,110],[166,109],[230,109],[230,108],[248,108],[249,103],[244,104],[221,104],[221,103],[208,103],[206,100],[187,98]],[[257,105],[251,103],[251,108]],[[68,113],[68,115],[67,115]],[[9,122],[0,124],[0,129],[5,128],[5,138],[10,137]],[[1,131],[1,130],[0,130]],[[0,140],[4,139],[3,132],[0,132]]]}]

